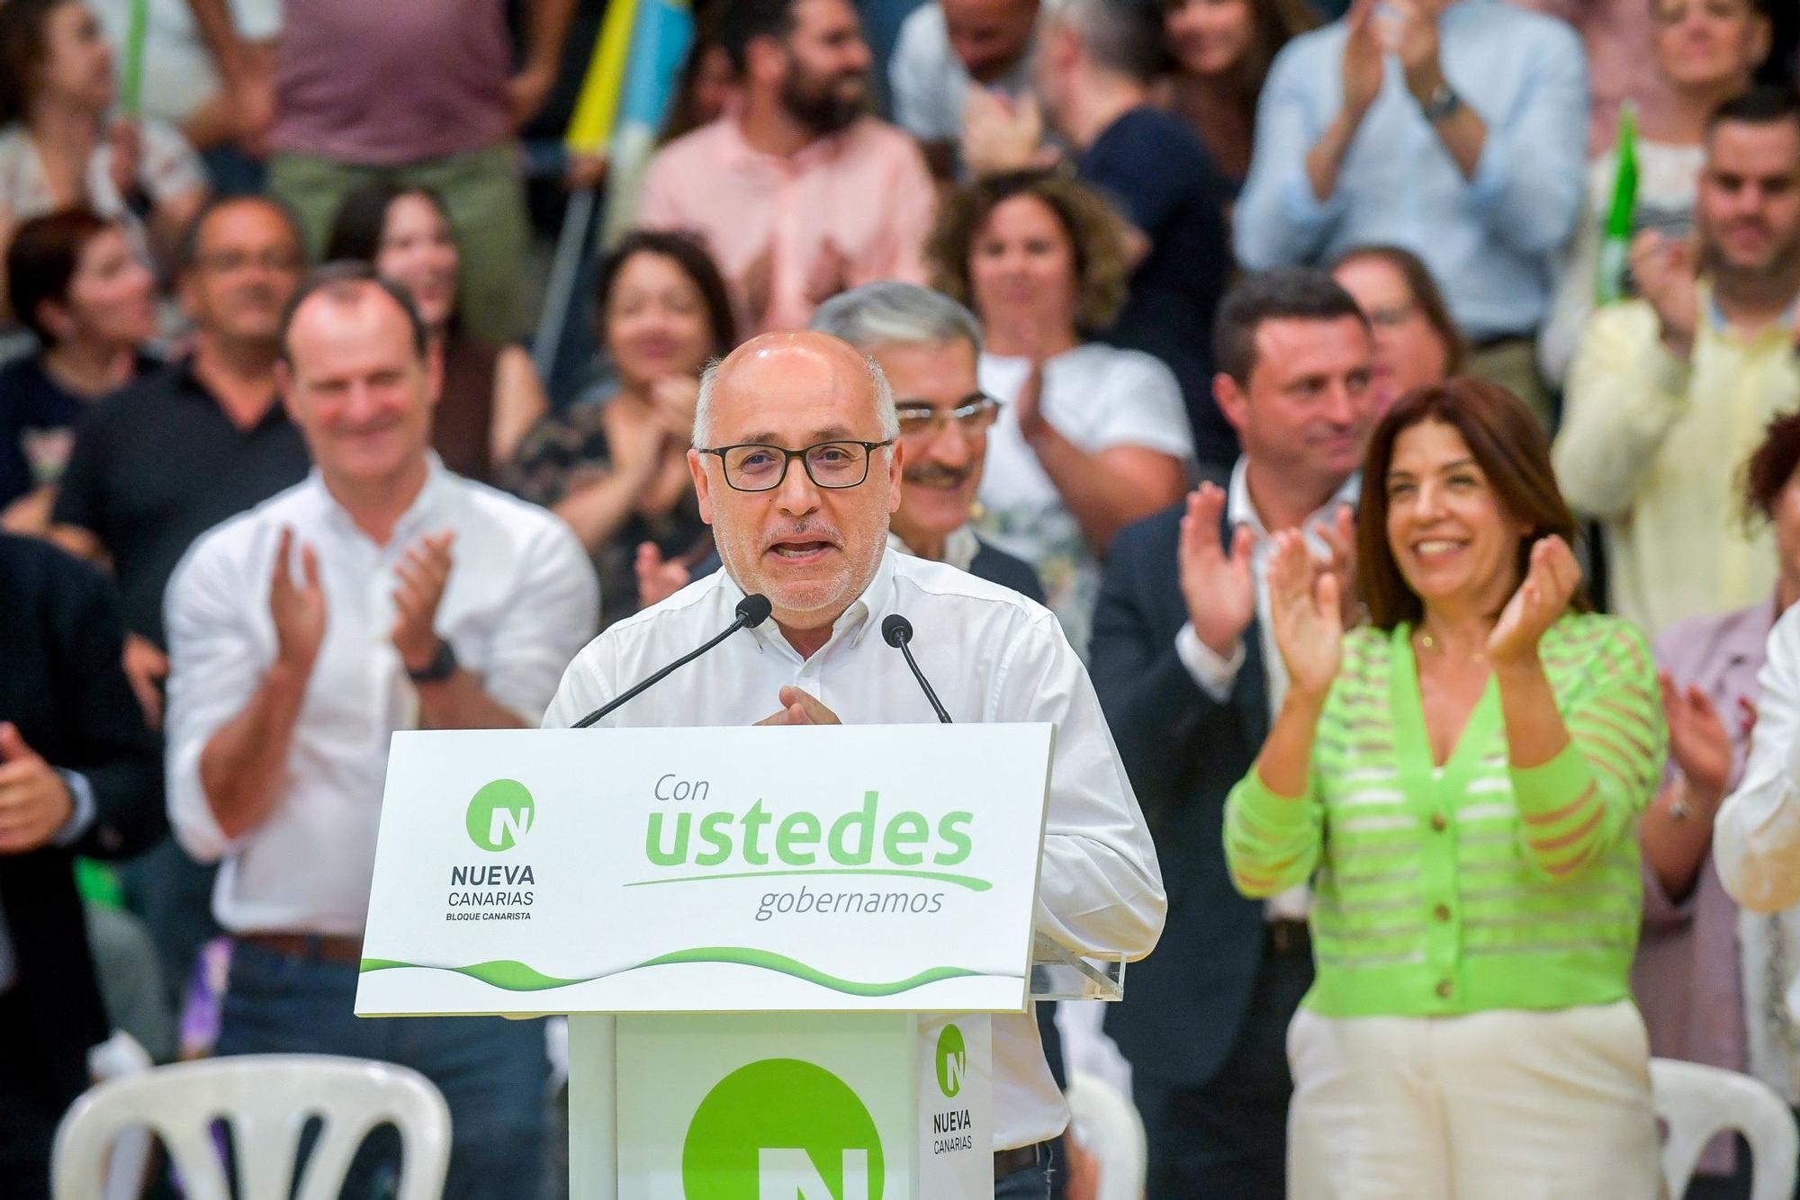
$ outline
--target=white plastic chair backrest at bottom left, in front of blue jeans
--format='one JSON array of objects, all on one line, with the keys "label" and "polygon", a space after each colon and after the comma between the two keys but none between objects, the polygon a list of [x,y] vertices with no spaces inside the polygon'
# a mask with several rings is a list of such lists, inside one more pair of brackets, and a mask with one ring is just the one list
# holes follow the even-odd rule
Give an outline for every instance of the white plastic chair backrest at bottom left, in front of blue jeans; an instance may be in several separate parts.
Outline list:
[{"label": "white plastic chair backrest at bottom left, in front of blue jeans", "polygon": [[90,1088],[56,1130],[56,1200],[101,1195],[106,1150],[135,1126],[162,1137],[191,1200],[230,1189],[212,1124],[232,1128],[241,1200],[286,1200],[301,1133],[322,1128],[297,1200],[328,1200],[378,1124],[403,1142],[398,1200],[437,1200],[450,1164],[450,1108],[430,1079],[407,1067],[326,1054],[247,1054],[176,1063]]}]

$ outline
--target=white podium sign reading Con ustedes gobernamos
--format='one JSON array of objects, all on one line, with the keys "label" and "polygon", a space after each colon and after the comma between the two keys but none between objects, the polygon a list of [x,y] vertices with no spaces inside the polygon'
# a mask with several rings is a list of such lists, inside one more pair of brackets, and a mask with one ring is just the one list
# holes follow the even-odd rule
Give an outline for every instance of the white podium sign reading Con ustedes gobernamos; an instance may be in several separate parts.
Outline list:
[{"label": "white podium sign reading Con ustedes gobernamos", "polygon": [[1049,754],[1049,725],[396,734],[356,1013],[1017,1013]]}]

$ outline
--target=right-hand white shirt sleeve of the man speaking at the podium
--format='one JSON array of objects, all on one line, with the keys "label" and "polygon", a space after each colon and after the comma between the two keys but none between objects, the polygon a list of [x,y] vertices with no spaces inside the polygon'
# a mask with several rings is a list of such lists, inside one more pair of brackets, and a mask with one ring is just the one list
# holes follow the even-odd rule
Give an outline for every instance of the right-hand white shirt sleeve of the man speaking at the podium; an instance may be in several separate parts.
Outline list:
[{"label": "right-hand white shirt sleeve of the man speaking at the podium", "polygon": [[1055,617],[1031,621],[1042,628],[1013,639],[985,720],[1057,727],[1037,928],[1078,954],[1141,959],[1168,910],[1156,846],[1082,660]]}]

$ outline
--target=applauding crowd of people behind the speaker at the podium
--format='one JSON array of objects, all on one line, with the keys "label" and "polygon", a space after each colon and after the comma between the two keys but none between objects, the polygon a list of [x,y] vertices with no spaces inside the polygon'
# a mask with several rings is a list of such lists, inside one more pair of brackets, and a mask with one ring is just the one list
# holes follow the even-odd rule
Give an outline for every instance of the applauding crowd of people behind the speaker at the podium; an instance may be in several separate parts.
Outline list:
[{"label": "applauding crowd of people behind the speaker at the podium", "polygon": [[1040,1027],[1152,1198],[1651,1196],[1649,1054],[1800,1105],[1791,9],[697,0],[632,166],[554,146],[605,7],[0,0],[0,1191],[122,1029],[554,1195],[540,1024],[349,1013],[387,738],[716,570],[702,372],[805,327],[895,551],[1094,680],[1168,927]]}]

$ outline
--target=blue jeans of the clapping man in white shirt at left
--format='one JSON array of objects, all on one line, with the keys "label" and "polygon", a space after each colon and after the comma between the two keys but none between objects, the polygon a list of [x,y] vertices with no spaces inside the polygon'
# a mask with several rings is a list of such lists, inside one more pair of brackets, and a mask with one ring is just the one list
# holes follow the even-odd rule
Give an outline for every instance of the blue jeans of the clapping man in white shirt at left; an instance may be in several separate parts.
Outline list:
[{"label": "blue jeans of the clapping man in white shirt at left", "polygon": [[[220,1054],[353,1054],[412,1067],[437,1085],[454,1130],[445,1200],[536,1196],[549,1060],[542,1020],[355,1015],[356,966],[232,946]],[[383,1162],[387,1159],[387,1162]],[[371,1137],[344,1195],[382,1196],[398,1139]],[[389,1182],[383,1182],[389,1180]]]}]

